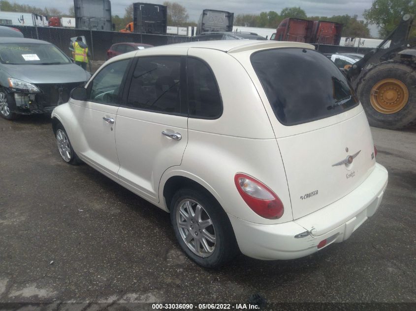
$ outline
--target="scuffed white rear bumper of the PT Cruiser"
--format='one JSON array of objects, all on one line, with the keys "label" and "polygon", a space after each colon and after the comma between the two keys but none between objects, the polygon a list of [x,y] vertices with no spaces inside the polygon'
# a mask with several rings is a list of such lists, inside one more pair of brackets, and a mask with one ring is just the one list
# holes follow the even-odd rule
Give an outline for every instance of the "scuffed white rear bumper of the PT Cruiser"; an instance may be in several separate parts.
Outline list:
[{"label": "scuffed white rear bumper of the PT Cruiser", "polygon": [[[375,165],[368,178],[350,194],[295,221],[259,225],[228,215],[243,254],[253,258],[294,259],[348,239],[380,206],[387,186],[387,170]],[[308,231],[302,238],[295,235]],[[318,244],[326,239],[326,245]]]}]

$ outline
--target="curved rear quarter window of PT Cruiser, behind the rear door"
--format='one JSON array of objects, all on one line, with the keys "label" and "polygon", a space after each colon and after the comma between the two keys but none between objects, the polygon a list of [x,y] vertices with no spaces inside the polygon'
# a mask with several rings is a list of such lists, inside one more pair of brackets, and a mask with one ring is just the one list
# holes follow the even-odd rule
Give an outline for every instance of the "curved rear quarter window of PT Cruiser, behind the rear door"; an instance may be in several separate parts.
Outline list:
[{"label": "curved rear quarter window of PT Cruiser, behind the rear door", "polygon": [[215,119],[223,113],[223,104],[214,74],[200,59],[188,57],[189,116]]}]

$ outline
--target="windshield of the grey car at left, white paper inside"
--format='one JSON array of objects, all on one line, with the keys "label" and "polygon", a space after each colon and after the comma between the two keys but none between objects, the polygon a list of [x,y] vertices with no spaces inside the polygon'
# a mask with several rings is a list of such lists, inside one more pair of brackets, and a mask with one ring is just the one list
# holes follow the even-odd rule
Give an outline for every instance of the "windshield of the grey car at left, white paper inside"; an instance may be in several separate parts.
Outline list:
[{"label": "windshield of the grey car at left, white paper inside", "polygon": [[56,46],[39,43],[0,43],[0,61],[13,65],[71,63]]}]

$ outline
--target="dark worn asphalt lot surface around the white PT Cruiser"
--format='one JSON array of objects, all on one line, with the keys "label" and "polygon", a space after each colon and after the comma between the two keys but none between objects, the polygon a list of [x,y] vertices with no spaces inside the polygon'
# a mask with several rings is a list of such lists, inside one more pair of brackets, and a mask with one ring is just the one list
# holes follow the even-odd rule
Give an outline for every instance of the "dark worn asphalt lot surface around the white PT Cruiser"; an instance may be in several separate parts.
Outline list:
[{"label": "dark worn asphalt lot surface around the white PT Cruiser", "polygon": [[182,254],[167,213],[66,165],[48,117],[0,119],[0,302],[416,302],[416,128],[372,131],[389,185],[349,240],[212,271]]}]

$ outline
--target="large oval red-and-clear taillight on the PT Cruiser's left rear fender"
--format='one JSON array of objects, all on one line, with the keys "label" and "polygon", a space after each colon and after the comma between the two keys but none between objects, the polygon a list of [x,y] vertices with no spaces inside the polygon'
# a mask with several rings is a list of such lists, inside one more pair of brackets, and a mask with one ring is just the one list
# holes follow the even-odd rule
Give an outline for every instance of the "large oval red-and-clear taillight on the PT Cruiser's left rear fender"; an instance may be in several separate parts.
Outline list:
[{"label": "large oval red-and-clear taillight on the PT Cruiser's left rear fender", "polygon": [[242,173],[235,174],[234,182],[241,198],[257,215],[267,219],[278,219],[283,216],[282,201],[266,185]]}]

